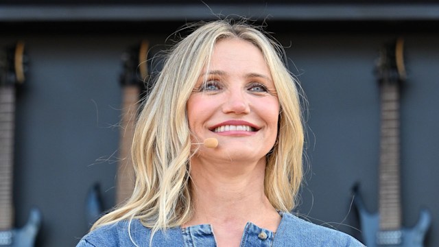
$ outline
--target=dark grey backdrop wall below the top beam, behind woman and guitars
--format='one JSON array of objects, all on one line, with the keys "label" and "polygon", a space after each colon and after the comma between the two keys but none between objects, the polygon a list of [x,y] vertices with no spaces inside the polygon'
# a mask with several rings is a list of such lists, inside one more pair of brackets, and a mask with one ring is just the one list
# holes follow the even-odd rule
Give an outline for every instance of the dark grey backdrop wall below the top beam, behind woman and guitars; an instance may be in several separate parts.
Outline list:
[{"label": "dark grey backdrop wall below the top beam, behind woman and guitars", "polygon": [[[401,91],[403,224],[422,207],[432,213],[426,246],[439,245],[439,35],[411,23],[267,21],[286,47],[289,69],[305,91],[307,171],[296,212],[361,239],[351,187],[361,185],[377,210],[378,49],[405,40],[408,80]],[[86,232],[86,193],[100,185],[104,209],[115,205],[121,119],[121,56],[148,40],[156,50],[183,21],[3,21],[0,45],[23,40],[28,76],[16,99],[16,226],[38,207],[37,246],[74,246]],[[17,30],[13,27],[29,29]],[[171,36],[172,39],[172,36]],[[155,52],[154,51],[154,52]]]}]

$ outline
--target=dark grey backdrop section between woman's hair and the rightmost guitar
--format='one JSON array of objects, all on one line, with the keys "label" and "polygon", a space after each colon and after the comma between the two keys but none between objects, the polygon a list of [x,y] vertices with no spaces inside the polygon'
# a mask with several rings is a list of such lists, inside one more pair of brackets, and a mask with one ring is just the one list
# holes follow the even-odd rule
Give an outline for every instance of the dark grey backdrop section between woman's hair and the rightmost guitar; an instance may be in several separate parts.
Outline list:
[{"label": "dark grey backdrop section between woman's hair and the rightmost guitar", "polygon": [[380,38],[291,36],[290,65],[307,95],[307,155],[300,213],[359,236],[351,187],[376,209],[379,95],[373,74]]}]

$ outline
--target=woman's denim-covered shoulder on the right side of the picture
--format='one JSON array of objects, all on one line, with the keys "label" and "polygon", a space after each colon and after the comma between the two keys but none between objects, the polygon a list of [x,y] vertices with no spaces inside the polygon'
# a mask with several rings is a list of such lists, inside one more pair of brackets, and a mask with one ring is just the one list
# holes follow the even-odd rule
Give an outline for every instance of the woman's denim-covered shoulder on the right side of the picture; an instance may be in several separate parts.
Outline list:
[{"label": "woman's denim-covered shoulder on the right side of the picture", "polygon": [[333,228],[302,220],[291,213],[283,213],[283,220],[276,231],[276,239],[283,246],[300,242],[304,246],[364,246],[357,239]]}]

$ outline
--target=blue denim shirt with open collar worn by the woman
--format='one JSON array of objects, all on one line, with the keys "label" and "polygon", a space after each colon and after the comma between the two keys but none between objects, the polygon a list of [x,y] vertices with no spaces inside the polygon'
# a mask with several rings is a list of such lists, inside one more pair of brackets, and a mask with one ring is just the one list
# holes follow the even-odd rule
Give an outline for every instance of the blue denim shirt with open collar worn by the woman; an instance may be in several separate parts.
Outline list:
[{"label": "blue denim shirt with open collar worn by the woman", "polygon": [[[281,212],[281,224],[276,233],[248,222],[244,228],[241,247],[255,246],[364,246],[357,239],[331,228],[302,220],[290,213]],[[128,233],[130,228],[130,234]],[[121,221],[101,226],[88,233],[76,247],[150,246],[151,229],[140,220]],[[131,236],[130,236],[131,235]],[[217,246],[209,224],[174,227],[154,234],[151,246],[160,247],[210,247]]]}]

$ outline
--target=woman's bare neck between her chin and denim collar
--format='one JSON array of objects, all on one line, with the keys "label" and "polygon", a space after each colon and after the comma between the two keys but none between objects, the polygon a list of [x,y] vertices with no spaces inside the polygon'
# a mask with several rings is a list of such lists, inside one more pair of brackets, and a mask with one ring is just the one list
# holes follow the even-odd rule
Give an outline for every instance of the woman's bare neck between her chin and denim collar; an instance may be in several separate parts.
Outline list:
[{"label": "woman's bare neck between her chin and denim collar", "polygon": [[254,163],[191,161],[195,214],[187,226],[242,228],[247,222],[276,231],[280,217],[264,193],[265,157]]}]

